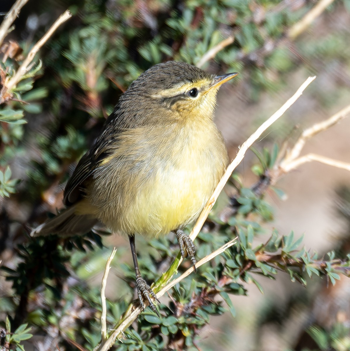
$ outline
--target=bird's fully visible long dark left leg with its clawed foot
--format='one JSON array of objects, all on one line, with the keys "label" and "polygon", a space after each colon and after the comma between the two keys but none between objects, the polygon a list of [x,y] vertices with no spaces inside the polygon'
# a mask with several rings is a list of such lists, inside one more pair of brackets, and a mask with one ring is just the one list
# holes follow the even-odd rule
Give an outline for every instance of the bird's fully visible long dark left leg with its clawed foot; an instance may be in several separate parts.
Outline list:
[{"label": "bird's fully visible long dark left leg with its clawed foot", "polygon": [[151,298],[149,296],[152,296],[154,299],[156,299],[159,303],[160,301],[157,299],[156,294],[154,291],[150,288],[150,286],[146,283],[146,280],[144,280],[141,276],[140,269],[139,269],[139,263],[137,262],[137,256],[136,256],[136,248],[135,248],[135,236],[129,235],[129,242],[130,242],[130,249],[131,249],[131,254],[133,256],[133,261],[134,261],[134,267],[135,267],[135,273],[136,273],[136,287],[137,287],[137,297],[139,298],[140,305],[142,309],[144,310],[144,303],[143,303],[143,298],[147,299],[149,307],[151,307],[152,311],[157,314],[158,317],[159,313],[156,309],[156,306],[152,302]]}]

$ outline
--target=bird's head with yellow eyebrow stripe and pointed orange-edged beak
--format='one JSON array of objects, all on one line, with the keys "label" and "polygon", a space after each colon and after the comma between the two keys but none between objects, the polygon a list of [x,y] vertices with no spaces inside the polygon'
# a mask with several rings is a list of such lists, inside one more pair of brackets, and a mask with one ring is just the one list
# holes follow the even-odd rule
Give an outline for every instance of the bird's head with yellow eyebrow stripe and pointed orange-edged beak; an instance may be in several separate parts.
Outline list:
[{"label": "bird's head with yellow eyebrow stripe and pointed orange-edged beak", "polygon": [[215,76],[185,62],[168,61],[142,73],[124,95],[151,115],[212,118],[218,88],[237,74]]}]

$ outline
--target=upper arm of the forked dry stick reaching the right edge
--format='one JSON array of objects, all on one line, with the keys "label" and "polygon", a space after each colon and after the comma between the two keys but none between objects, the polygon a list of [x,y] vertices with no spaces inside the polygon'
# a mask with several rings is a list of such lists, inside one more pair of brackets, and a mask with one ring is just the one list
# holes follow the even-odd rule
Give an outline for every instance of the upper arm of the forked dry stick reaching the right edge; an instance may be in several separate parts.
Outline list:
[{"label": "upper arm of the forked dry stick reaching the right edge", "polygon": [[[297,157],[299,157],[302,148],[304,147],[306,141],[316,135],[319,132],[322,132],[324,130],[327,130],[329,127],[332,125],[336,124],[338,121],[342,120],[343,118],[346,117],[347,114],[350,113],[350,105],[344,107],[342,110],[337,112],[336,114],[332,115],[330,118],[326,119],[325,121],[319,122],[317,124],[314,124],[308,129],[305,129],[293,148],[287,153],[286,157],[284,160],[280,163],[279,167],[282,168],[282,170],[285,170],[285,172],[288,172],[287,170],[289,169],[289,163],[294,161]],[[292,167],[294,168],[294,167]]]}]

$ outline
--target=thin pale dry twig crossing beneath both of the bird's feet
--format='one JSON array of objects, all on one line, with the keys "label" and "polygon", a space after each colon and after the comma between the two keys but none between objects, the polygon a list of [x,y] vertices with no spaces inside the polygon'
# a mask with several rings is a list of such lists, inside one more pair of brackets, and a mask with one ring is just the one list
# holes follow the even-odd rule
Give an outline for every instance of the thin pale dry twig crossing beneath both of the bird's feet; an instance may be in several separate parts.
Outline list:
[{"label": "thin pale dry twig crossing beneath both of the bird's feet", "polygon": [[[234,238],[233,240],[229,241],[228,243],[222,245],[219,249],[215,250],[214,252],[210,253],[208,256],[202,258],[200,261],[196,263],[196,267],[200,267],[204,263],[207,263],[217,255],[220,255],[222,252],[224,252],[226,249],[228,249],[230,246],[234,245],[236,243],[237,238]],[[186,278],[189,276],[192,272],[194,271],[193,266],[190,267],[186,272],[182,273],[180,277],[173,279],[170,283],[168,283],[166,286],[162,288],[157,293],[157,297],[163,296],[169,289],[171,289],[175,284],[181,282],[182,279]],[[132,311],[129,316],[123,320],[123,322],[113,331],[113,333],[110,335],[108,340],[104,345],[102,345],[101,348],[99,348],[99,351],[107,351],[112,347],[114,344],[116,338],[123,332],[124,329],[126,329],[134,320],[137,318],[137,316],[141,313],[142,309],[141,307],[136,307],[134,311]]]}]

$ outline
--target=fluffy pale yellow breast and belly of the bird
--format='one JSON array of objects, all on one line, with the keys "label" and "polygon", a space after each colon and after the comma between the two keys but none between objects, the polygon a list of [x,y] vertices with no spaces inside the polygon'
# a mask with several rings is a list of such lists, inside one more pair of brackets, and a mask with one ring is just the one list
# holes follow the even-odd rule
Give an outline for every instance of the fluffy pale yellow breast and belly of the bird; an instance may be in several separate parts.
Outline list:
[{"label": "fluffy pale yellow breast and belly of the bird", "polygon": [[87,200],[111,230],[158,236],[199,216],[228,157],[213,122],[147,128],[123,134],[110,161],[96,170]]}]

